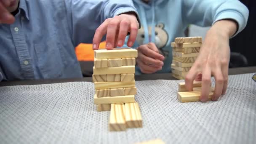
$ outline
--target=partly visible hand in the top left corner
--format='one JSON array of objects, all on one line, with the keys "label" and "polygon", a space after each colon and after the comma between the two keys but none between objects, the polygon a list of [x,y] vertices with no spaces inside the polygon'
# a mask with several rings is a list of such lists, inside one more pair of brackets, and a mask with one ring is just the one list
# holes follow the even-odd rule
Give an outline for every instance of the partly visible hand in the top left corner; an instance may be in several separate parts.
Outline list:
[{"label": "partly visible hand in the top left corner", "polygon": [[11,5],[11,0],[0,0],[0,24],[12,24],[14,17],[7,10]]}]

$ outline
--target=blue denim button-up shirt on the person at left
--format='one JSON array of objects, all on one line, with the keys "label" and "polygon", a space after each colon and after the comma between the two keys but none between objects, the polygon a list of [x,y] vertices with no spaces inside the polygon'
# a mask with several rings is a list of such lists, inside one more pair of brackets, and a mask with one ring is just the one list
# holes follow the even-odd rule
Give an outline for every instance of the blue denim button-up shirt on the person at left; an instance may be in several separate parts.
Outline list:
[{"label": "blue denim button-up shirt on the person at left", "polygon": [[131,0],[20,0],[16,21],[0,24],[0,81],[82,77],[75,47],[130,11]]}]

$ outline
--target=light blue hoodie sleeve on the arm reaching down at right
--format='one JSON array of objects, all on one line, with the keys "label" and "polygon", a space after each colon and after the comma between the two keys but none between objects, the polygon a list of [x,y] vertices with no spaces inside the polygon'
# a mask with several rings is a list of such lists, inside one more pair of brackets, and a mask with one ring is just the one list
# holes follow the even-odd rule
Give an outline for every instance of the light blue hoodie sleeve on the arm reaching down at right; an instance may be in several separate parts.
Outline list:
[{"label": "light blue hoodie sleeve on the arm reaching down at right", "polygon": [[185,23],[204,27],[222,19],[233,19],[238,24],[235,35],[245,28],[248,16],[248,8],[239,0],[182,1],[182,18]]}]

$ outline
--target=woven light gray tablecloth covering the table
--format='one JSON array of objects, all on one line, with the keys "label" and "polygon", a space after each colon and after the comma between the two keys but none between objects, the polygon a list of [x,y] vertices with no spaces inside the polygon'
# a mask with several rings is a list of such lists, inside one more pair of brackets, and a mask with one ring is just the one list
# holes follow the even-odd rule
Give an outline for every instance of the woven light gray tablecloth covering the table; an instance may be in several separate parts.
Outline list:
[{"label": "woven light gray tablecloth covering the table", "polygon": [[96,112],[93,83],[0,88],[0,143],[255,144],[256,83],[229,76],[219,101],[180,103],[174,80],[137,81],[143,128],[109,132],[109,112]]}]

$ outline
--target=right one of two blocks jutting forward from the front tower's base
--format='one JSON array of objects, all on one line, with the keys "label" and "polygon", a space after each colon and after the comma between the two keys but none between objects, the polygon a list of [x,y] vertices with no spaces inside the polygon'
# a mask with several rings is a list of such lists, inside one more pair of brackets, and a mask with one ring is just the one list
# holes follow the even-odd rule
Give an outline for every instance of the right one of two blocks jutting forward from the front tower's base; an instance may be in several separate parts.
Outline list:
[{"label": "right one of two blocks jutting forward from the front tower's base", "polygon": [[142,128],[142,117],[137,102],[125,103],[125,121],[127,128]]}]

